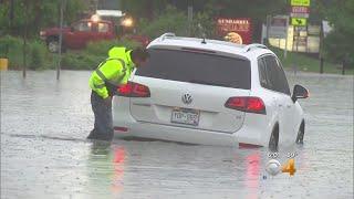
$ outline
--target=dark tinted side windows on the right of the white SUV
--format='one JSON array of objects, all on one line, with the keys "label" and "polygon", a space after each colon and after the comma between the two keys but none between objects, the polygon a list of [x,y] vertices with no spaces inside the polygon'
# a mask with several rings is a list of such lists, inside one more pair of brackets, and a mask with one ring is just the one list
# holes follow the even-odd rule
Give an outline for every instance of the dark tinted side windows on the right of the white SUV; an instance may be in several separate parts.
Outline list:
[{"label": "dark tinted side windows on the right of the white SUV", "polygon": [[285,73],[275,56],[268,55],[263,59],[267,65],[268,88],[290,95]]}]

